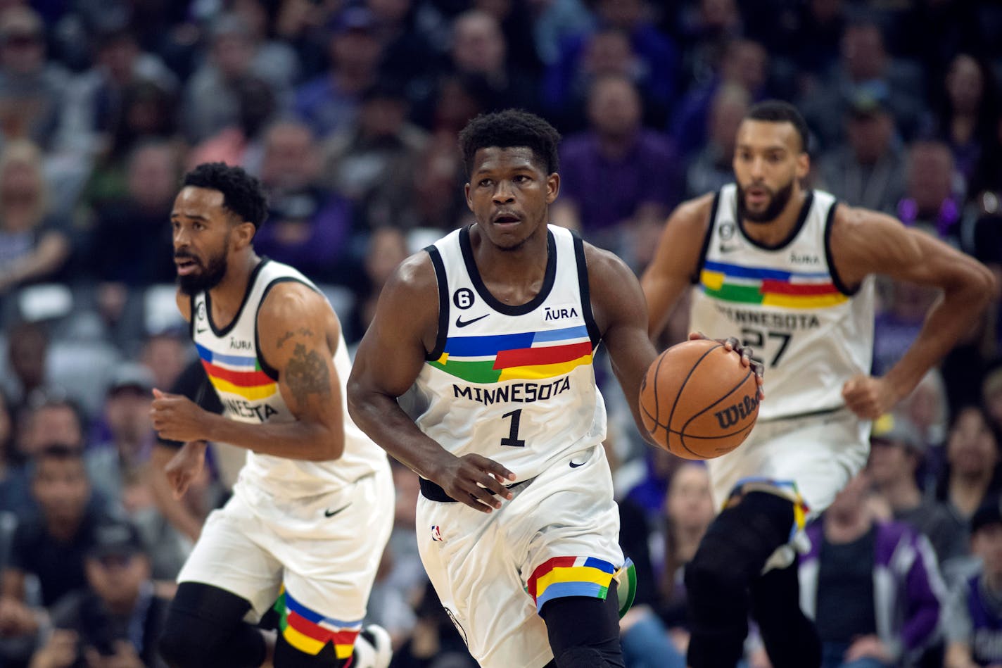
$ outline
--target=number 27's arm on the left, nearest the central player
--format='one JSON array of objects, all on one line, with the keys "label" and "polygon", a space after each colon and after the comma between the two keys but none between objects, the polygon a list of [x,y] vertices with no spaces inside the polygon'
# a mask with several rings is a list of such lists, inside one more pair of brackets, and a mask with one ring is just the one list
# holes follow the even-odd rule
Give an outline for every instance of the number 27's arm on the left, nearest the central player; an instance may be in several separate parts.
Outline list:
[{"label": "number 27's arm on the left, nearest the central player", "polygon": [[712,195],[683,202],[664,224],[654,258],[640,279],[647,301],[647,333],[651,339],[656,339],[664,329],[672,307],[691,283],[712,206]]}]

